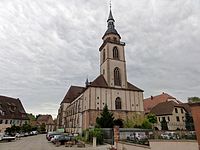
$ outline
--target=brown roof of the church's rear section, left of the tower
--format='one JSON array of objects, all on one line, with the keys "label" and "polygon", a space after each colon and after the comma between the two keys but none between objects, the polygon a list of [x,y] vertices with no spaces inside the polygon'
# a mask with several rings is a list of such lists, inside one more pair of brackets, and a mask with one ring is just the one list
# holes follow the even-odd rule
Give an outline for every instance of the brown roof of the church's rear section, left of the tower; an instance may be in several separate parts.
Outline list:
[{"label": "brown roof of the church's rear section, left of the tower", "polygon": [[62,103],[71,103],[75,98],[77,98],[83,91],[85,90],[84,87],[80,86],[71,86],[67,91]]}]

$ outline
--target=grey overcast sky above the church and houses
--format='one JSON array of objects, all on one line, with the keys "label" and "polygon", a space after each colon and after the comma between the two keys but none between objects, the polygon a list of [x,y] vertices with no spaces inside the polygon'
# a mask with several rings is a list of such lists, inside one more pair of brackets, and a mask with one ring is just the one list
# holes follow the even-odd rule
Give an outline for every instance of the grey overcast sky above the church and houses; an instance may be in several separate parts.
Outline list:
[{"label": "grey overcast sky above the church and houses", "polygon": [[[200,96],[200,1],[113,0],[128,80],[144,96]],[[99,74],[108,0],[0,0],[0,95],[57,114],[70,85]]]}]

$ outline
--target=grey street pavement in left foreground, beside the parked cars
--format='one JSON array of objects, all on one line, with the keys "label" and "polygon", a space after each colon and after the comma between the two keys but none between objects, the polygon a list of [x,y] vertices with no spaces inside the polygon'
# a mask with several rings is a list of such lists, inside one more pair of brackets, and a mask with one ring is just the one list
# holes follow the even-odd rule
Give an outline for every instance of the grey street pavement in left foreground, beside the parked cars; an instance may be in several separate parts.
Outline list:
[{"label": "grey street pavement in left foreground, beside the parked cars", "polygon": [[45,135],[36,135],[23,137],[20,140],[12,142],[0,142],[0,150],[107,150],[109,145],[103,145],[93,148],[87,145],[86,148],[65,147],[61,145],[56,147],[54,144],[46,140]]}]

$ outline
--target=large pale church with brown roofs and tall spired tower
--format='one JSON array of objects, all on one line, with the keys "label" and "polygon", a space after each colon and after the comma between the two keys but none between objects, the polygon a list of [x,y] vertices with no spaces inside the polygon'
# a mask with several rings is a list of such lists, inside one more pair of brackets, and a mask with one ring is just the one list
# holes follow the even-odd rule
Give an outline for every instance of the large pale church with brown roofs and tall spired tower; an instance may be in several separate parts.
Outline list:
[{"label": "large pale church with brown roofs and tall spired tower", "polygon": [[107,30],[99,48],[100,75],[85,87],[71,86],[60,104],[57,128],[81,132],[95,126],[96,118],[107,104],[115,119],[143,113],[143,90],[127,81],[125,43],[115,29],[110,10]]}]

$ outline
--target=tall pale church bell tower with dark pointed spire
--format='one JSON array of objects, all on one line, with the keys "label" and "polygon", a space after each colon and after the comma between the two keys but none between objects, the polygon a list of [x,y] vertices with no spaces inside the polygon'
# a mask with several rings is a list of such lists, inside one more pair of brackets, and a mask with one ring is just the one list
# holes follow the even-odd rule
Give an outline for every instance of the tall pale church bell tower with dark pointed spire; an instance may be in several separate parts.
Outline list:
[{"label": "tall pale church bell tower with dark pointed spire", "polygon": [[100,74],[110,87],[127,88],[126,61],[124,46],[120,35],[115,29],[111,7],[107,20],[107,30],[102,37],[100,51]]}]

